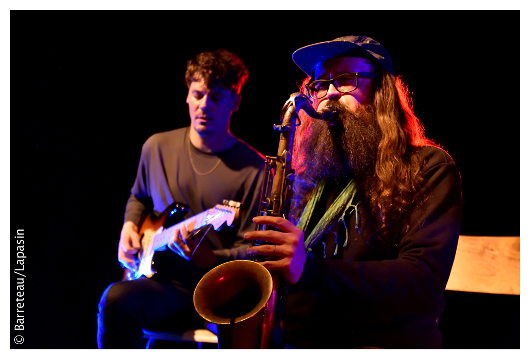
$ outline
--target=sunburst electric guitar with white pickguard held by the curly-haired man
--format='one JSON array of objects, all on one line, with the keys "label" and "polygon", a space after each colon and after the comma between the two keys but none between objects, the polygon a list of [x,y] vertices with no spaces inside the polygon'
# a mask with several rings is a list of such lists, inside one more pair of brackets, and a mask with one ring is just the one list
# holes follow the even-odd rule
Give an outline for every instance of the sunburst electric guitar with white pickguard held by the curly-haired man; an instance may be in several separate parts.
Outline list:
[{"label": "sunburst electric guitar with white pickguard held by the curly-haired man", "polygon": [[[211,227],[218,230],[224,223],[232,226],[233,222],[237,220],[240,206],[241,203],[236,201],[224,200],[223,205],[215,205],[214,208],[186,220],[182,220],[182,218],[188,212],[188,206],[179,203],[171,204],[158,217],[153,213],[147,214],[139,225],[140,249],[136,254],[137,270],[125,269],[123,280],[135,280],[142,275],[153,276],[156,273],[152,267],[155,251],[165,250],[166,245],[175,237],[177,229],[185,226],[190,237],[196,237],[198,247]],[[198,236],[199,233],[200,236]]]}]

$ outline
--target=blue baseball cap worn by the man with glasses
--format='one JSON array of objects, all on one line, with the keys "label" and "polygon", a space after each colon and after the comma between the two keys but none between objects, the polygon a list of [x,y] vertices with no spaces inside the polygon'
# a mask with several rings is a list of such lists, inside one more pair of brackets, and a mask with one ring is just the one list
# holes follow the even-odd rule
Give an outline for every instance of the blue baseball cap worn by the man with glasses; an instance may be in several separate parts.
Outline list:
[{"label": "blue baseball cap worn by the man with glasses", "polygon": [[394,75],[388,52],[380,43],[367,36],[345,36],[305,46],[293,52],[295,64],[311,77],[315,75],[316,64],[336,57],[362,57],[374,60],[375,64]]}]

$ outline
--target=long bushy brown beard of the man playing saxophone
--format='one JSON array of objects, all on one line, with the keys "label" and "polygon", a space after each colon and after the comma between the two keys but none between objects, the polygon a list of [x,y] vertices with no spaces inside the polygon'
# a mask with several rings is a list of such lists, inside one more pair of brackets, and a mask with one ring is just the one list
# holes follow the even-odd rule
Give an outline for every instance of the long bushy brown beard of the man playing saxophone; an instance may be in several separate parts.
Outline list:
[{"label": "long bushy brown beard of the man playing saxophone", "polygon": [[331,127],[311,119],[299,129],[302,143],[295,154],[296,180],[291,199],[291,218],[298,221],[308,197],[319,181],[342,182],[373,172],[381,128],[372,106],[354,112],[329,101],[338,116]]}]

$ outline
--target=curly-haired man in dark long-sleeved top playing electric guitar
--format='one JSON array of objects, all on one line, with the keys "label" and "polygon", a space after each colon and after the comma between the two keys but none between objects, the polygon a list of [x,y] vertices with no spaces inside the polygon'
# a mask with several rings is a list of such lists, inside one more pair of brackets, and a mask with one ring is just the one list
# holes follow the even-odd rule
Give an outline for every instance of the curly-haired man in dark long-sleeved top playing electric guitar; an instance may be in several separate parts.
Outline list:
[{"label": "curly-haired man in dark long-sleeved top playing electric guitar", "polygon": [[248,258],[250,242],[243,235],[255,229],[252,218],[258,212],[263,156],[229,133],[247,78],[243,62],[226,50],[204,52],[188,61],[191,126],[155,134],[145,142],[127,202],[118,260],[132,273],[138,270],[136,253],[146,241],[139,227],[143,229],[148,213],[165,217],[173,203],[179,204],[171,211],[174,216],[182,212],[188,219],[233,200],[241,203],[239,219],[233,227],[208,231],[198,246],[189,236],[190,227],[173,230],[167,244],[173,251],[155,253],[153,276],[111,284],[99,304],[99,348],[142,348],[142,329],[200,327],[192,295],[202,275],[228,260]]}]

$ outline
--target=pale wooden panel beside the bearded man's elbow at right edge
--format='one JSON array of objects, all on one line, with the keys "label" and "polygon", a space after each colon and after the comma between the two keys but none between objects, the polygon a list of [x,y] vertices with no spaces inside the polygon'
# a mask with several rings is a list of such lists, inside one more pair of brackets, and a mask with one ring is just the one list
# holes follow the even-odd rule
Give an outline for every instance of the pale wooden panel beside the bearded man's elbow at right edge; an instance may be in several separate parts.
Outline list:
[{"label": "pale wooden panel beside the bearded man's elbow at right edge", "polygon": [[519,295],[519,237],[461,235],[446,290]]}]

